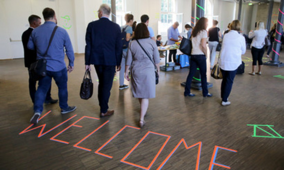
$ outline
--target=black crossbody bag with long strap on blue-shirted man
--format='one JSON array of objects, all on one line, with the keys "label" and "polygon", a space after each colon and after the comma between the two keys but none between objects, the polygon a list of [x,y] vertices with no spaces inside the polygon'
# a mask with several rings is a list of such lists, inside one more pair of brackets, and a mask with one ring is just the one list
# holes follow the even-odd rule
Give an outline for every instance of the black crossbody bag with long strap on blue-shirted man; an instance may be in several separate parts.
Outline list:
[{"label": "black crossbody bag with long strap on blue-shirted man", "polygon": [[31,63],[31,65],[30,65],[29,72],[30,72],[31,78],[35,81],[38,81],[38,80],[40,80],[40,79],[42,79],[43,77],[46,76],[46,59],[45,59],[45,57],[47,56],[47,51],[49,49],[49,46],[51,44],[51,41],[54,37],[55,31],[57,30],[57,28],[58,28],[58,26],[55,26],[54,29],[53,29],[53,32],[52,32],[51,37],[49,39],[48,47],[46,49],[46,52],[43,55],[43,58],[35,61],[34,63]]}]

